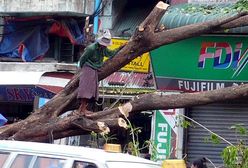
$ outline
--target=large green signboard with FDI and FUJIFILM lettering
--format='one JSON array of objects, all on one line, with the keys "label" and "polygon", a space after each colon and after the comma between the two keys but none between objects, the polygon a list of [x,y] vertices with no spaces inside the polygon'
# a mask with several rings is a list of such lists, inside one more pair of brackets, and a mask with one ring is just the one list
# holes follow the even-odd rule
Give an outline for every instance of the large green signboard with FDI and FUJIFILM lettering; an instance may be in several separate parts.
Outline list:
[{"label": "large green signboard with FDI and FUJIFILM lettering", "polygon": [[248,38],[202,36],[151,52],[159,90],[208,91],[248,81]]}]

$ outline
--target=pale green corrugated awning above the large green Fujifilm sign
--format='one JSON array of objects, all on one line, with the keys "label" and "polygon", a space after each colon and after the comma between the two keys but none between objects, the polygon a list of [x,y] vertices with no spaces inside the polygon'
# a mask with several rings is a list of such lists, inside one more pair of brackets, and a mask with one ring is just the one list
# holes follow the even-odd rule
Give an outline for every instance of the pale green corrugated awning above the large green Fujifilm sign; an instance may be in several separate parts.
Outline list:
[{"label": "pale green corrugated awning above the large green Fujifilm sign", "polygon": [[[224,18],[237,14],[233,9],[234,4],[220,4],[220,5],[197,5],[197,4],[180,4],[172,6],[162,17],[163,23],[168,29],[181,27],[184,25],[201,23],[205,21],[214,20],[217,18]],[[226,33],[247,33],[248,26],[230,29]]]}]

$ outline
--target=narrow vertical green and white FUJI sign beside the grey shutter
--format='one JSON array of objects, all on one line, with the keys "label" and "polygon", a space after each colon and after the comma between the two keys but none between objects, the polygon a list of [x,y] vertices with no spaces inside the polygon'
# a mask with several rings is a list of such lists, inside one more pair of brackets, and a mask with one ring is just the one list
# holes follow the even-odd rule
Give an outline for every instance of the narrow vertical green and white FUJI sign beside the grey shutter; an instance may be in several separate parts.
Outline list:
[{"label": "narrow vertical green and white FUJI sign beside the grey shutter", "polygon": [[176,152],[178,147],[178,131],[176,127],[176,115],[179,109],[156,110],[154,113],[154,145],[156,147],[156,156],[152,156],[155,161],[163,161],[169,158],[178,158]]}]

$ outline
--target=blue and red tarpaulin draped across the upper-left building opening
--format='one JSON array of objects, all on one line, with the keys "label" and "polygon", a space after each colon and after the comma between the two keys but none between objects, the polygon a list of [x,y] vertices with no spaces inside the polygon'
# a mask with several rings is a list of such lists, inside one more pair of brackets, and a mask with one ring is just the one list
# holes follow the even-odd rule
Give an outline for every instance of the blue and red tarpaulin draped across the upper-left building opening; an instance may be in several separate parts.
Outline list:
[{"label": "blue and red tarpaulin draped across the upper-left building opening", "polygon": [[83,43],[82,31],[74,19],[8,20],[4,25],[0,55],[32,62],[48,51],[50,32],[68,37],[73,44]]}]

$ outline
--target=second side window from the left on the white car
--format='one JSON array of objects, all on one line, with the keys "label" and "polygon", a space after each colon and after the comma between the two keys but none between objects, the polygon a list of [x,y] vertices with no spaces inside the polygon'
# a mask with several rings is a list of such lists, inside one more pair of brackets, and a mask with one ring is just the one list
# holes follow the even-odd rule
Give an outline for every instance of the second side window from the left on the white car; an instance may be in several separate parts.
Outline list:
[{"label": "second side window from the left on the white car", "polygon": [[17,155],[11,168],[27,168],[32,160],[33,156],[30,155]]}]

